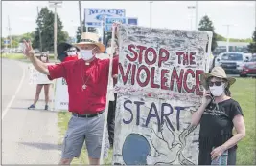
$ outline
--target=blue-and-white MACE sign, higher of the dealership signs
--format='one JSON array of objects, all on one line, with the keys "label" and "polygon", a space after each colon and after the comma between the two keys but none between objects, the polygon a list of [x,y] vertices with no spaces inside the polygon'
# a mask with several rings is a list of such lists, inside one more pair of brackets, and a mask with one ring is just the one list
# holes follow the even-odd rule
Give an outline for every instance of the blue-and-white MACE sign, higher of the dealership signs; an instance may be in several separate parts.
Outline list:
[{"label": "blue-and-white MACE sign, higher of the dealership signs", "polygon": [[125,16],[125,9],[84,9],[85,27],[101,27],[105,17]]}]

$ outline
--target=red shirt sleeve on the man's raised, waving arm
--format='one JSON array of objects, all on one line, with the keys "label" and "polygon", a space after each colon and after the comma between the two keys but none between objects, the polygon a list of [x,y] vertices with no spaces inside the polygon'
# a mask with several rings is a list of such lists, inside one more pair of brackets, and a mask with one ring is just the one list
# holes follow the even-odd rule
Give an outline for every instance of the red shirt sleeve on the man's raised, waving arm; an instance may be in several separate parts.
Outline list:
[{"label": "red shirt sleeve on the man's raised, waving arm", "polygon": [[63,63],[57,65],[49,65],[48,70],[50,75],[48,75],[49,80],[66,77],[66,69]]}]

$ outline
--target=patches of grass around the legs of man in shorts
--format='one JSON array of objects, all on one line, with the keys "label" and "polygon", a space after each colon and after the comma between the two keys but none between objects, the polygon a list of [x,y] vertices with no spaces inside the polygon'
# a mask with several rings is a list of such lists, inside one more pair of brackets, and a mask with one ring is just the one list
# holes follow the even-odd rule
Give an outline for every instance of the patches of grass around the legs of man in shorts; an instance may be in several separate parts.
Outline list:
[{"label": "patches of grass around the legs of man in shorts", "polygon": [[[67,130],[67,125],[70,117],[71,117],[71,114],[68,112],[58,113],[58,129],[60,131],[59,144],[61,144],[63,141],[63,137]],[[110,149],[108,152],[108,157],[105,158],[105,165],[112,164],[112,154],[113,154],[112,149]],[[74,158],[71,164],[89,164],[88,155],[87,155],[87,152],[85,151],[85,146],[81,150],[81,156],[79,158]]]}]

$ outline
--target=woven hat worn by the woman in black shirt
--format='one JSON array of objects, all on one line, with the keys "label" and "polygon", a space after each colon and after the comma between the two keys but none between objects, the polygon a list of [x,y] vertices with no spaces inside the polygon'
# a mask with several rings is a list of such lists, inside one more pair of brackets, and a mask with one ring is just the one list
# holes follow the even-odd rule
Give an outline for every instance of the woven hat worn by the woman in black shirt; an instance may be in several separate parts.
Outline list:
[{"label": "woven hat worn by the woman in black shirt", "polygon": [[223,70],[223,68],[214,67],[211,73],[201,73],[200,75],[201,84],[206,90],[208,90],[209,88],[207,80],[209,77],[212,77],[212,76],[227,80],[230,86],[236,82],[235,78],[226,76],[226,73]]}]

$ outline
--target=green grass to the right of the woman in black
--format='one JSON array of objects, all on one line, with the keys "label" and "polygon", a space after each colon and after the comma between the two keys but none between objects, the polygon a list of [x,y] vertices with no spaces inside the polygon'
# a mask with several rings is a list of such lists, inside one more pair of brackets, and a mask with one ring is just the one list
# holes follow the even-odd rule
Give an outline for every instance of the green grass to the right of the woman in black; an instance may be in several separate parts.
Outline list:
[{"label": "green grass to the right of the woman in black", "polygon": [[232,98],[237,100],[242,107],[246,127],[246,136],[238,144],[238,165],[255,164],[255,83],[256,79],[237,78],[237,82],[231,87]]}]

